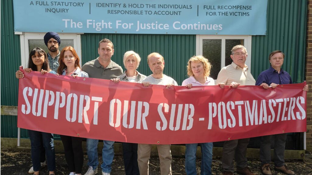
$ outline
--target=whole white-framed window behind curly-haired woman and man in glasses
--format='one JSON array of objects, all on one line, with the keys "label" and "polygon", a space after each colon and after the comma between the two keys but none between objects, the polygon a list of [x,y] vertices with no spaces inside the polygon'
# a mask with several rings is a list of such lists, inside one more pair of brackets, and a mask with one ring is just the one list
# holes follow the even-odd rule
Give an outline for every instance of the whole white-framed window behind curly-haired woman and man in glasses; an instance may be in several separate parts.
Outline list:
[{"label": "whole white-framed window behind curly-haired woman and man in glasses", "polygon": [[244,45],[248,57],[246,65],[251,66],[251,35],[197,35],[196,55],[203,55],[212,64],[210,77],[217,79],[222,67],[232,63],[231,50],[235,45]]}]

